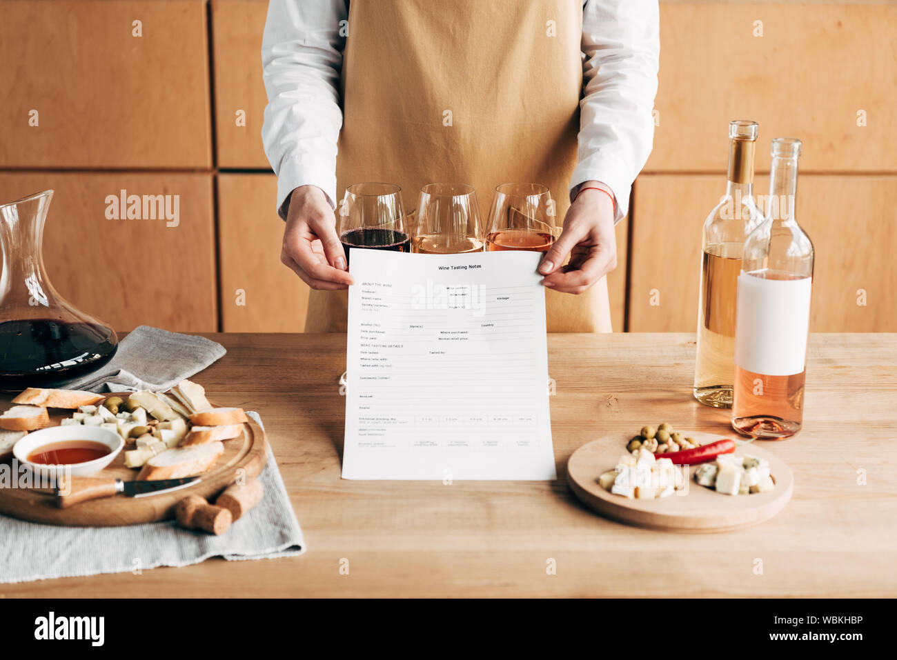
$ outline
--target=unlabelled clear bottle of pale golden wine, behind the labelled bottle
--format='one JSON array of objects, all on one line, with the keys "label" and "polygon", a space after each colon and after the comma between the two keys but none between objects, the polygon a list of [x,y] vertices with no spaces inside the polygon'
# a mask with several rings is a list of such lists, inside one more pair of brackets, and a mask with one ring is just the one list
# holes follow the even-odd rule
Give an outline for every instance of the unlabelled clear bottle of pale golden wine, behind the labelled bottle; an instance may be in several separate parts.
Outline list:
[{"label": "unlabelled clear bottle of pale golden wine, behind the labelled bottle", "polygon": [[745,238],[762,222],[753,199],[753,152],[757,123],[729,123],[726,194],[704,221],[698,353],[694,398],[715,408],[732,407],[735,379],[736,286]]}]

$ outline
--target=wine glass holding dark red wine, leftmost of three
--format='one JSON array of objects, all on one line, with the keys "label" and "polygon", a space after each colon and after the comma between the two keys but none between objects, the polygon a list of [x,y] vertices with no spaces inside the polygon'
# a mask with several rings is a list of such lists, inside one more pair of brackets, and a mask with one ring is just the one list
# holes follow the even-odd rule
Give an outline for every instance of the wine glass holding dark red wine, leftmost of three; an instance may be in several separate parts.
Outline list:
[{"label": "wine glass holding dark red wine, leftmost of three", "polygon": [[402,188],[394,183],[356,183],[345,189],[336,231],[349,265],[353,248],[411,251]]}]

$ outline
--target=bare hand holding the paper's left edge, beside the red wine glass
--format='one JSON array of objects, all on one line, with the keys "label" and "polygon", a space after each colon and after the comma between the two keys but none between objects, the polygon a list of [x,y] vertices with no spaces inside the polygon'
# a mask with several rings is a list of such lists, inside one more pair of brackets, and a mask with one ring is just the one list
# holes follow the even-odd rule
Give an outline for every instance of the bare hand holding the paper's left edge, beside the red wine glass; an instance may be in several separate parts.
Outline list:
[{"label": "bare hand holding the paper's left edge, beside the red wine glass", "polygon": [[292,191],[283,230],[281,261],[312,289],[334,291],[353,284],[333,209],[317,186]]}]

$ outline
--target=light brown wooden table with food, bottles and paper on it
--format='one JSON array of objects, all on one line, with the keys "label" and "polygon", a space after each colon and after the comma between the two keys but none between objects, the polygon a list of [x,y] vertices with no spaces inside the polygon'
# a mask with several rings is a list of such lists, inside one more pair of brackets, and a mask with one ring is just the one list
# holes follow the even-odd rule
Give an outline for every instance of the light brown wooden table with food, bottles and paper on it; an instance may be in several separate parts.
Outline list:
[{"label": "light brown wooden table with food, bottles and paper on it", "polygon": [[261,413],[308,551],[0,597],[897,595],[897,334],[811,337],[804,430],[764,445],[794,470],[794,499],[762,525],[697,535],[597,517],[565,482],[570,453],[601,434],[731,432],[692,399],[691,334],[549,335],[558,481],[451,485],[340,479],[344,335],[208,336],[228,354],[197,380]]}]

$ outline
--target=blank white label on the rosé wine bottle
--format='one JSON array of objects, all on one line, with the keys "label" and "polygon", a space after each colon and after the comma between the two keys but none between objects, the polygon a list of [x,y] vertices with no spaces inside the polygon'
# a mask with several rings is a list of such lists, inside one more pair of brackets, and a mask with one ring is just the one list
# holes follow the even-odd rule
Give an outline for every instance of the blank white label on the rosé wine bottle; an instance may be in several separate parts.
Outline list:
[{"label": "blank white label on the ros\u00e9 wine bottle", "polygon": [[763,376],[799,374],[806,365],[812,279],[738,275],[735,363]]}]

